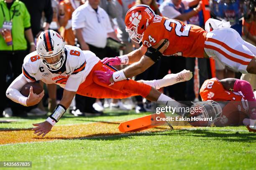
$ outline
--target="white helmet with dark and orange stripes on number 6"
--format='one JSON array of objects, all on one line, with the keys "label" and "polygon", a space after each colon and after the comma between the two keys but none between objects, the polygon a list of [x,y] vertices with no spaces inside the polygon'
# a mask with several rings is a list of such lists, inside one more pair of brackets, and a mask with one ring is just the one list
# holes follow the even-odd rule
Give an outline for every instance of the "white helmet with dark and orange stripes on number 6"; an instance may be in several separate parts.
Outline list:
[{"label": "white helmet with dark and orange stripes on number 6", "polygon": [[44,65],[51,71],[59,70],[66,59],[65,43],[54,30],[41,32],[36,41],[36,51]]}]

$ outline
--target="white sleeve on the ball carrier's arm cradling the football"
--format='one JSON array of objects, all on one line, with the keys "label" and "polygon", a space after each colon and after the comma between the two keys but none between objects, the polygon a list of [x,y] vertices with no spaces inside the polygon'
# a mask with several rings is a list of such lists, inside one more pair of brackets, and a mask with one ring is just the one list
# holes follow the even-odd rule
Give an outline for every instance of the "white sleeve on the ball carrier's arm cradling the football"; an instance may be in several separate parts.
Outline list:
[{"label": "white sleeve on the ball carrier's arm cradling the football", "polygon": [[26,101],[28,97],[25,97],[20,93],[20,89],[26,83],[28,83],[28,81],[22,74],[20,74],[15,80],[13,80],[13,82],[6,90],[6,97],[8,97],[10,100],[13,100],[14,102],[26,106]]}]

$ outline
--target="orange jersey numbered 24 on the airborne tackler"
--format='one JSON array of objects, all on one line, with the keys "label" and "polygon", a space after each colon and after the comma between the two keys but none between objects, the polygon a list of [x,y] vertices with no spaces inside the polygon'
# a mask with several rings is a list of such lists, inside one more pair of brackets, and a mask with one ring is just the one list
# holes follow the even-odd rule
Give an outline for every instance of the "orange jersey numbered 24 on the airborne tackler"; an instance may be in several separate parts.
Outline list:
[{"label": "orange jersey numbered 24 on the airborne tackler", "polygon": [[168,39],[169,46],[164,50],[164,55],[204,57],[206,33],[199,26],[156,15],[144,31],[142,43],[145,47],[151,47],[162,39]]}]

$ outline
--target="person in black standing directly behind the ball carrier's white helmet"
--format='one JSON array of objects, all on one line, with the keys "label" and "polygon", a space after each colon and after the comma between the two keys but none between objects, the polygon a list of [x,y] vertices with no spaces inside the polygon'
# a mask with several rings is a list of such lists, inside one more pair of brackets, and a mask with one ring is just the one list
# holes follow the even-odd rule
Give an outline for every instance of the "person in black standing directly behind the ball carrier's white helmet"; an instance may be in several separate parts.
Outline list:
[{"label": "person in black standing directly behind the ball carrier's white helmet", "polygon": [[[52,3],[51,0],[21,0],[25,3],[26,7],[28,8],[28,12],[31,15],[31,29],[33,32],[33,37],[36,39],[38,35],[44,30],[49,30],[50,29],[50,24],[52,23],[53,19],[53,9],[52,9]],[[56,6],[56,3],[54,3]],[[44,15],[44,19],[43,18]],[[41,21],[43,22],[43,27],[41,27]],[[55,26],[54,26],[55,25]],[[51,24],[51,29],[56,30],[57,26],[56,23]],[[41,85],[44,85],[42,82],[40,82]],[[49,110],[53,111],[55,106],[56,106],[56,85],[55,84],[50,84],[46,85],[48,94],[49,94],[49,99],[48,99],[48,104],[49,104]],[[28,113],[28,115],[46,115],[46,111],[43,106],[43,102],[39,102],[38,107],[34,107],[31,109]]]}]

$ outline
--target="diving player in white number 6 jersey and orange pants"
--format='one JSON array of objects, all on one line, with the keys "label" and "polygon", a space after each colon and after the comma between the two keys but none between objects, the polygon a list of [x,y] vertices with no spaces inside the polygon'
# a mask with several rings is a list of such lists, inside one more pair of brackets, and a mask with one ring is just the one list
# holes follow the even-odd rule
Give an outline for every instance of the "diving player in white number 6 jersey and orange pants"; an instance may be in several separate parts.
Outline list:
[{"label": "diving player in white number 6 jersey and orange pants", "polygon": [[[160,88],[176,82],[189,80],[192,73],[183,70],[177,74],[166,75],[161,80],[136,82],[123,80],[113,85],[102,83],[95,76],[95,71],[105,71],[113,74],[114,70],[100,62],[100,59],[90,51],[82,51],[78,47],[64,45],[61,36],[53,31],[46,30],[37,39],[36,51],[24,59],[22,74],[8,87],[6,96],[25,106],[36,105],[44,96],[44,91],[36,95],[30,88],[28,97],[21,95],[20,89],[28,82],[41,80],[46,84],[58,84],[64,88],[63,97],[54,112],[45,122],[33,124],[33,130],[39,135],[46,135],[52,126],[59,121],[69,107],[74,95],[84,95],[95,98],[126,98],[141,95],[148,100],[158,101],[164,105],[171,105],[170,97],[161,94],[153,87]],[[144,82],[144,83],[143,83]],[[148,84],[148,85],[147,85]],[[150,86],[151,85],[151,86]],[[179,105],[178,102],[177,105]]]}]

